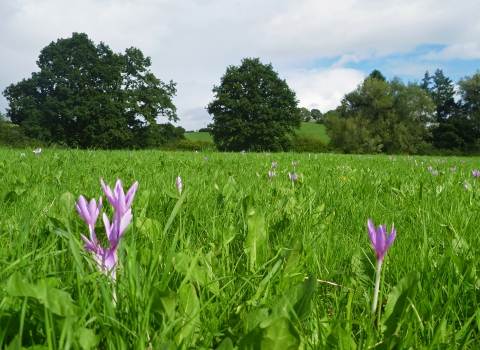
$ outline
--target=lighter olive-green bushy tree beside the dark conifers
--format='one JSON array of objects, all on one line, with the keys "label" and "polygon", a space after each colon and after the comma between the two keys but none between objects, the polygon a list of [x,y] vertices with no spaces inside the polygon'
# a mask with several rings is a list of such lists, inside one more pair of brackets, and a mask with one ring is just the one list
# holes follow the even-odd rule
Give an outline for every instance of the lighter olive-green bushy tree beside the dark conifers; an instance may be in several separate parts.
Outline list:
[{"label": "lighter olive-green bushy tree beside the dark conifers", "polygon": [[345,153],[419,153],[433,111],[418,85],[367,77],[324,120],[330,144]]}]

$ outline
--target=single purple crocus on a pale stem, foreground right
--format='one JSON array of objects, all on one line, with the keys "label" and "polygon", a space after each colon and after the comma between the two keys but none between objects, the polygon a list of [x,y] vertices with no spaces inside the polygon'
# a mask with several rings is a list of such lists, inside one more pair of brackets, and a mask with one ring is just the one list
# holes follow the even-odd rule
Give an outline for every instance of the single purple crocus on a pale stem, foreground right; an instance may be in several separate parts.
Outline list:
[{"label": "single purple crocus on a pale stem, foreground right", "polygon": [[392,245],[397,232],[394,230],[394,224],[392,223],[392,229],[388,237],[386,237],[387,226],[380,225],[375,229],[371,219],[367,220],[367,232],[370,236],[370,242],[372,242],[375,255],[377,256],[377,275],[375,277],[375,291],[373,293],[372,315],[377,311],[378,293],[380,291],[380,276],[382,270],[383,259],[387,253],[388,248]]}]

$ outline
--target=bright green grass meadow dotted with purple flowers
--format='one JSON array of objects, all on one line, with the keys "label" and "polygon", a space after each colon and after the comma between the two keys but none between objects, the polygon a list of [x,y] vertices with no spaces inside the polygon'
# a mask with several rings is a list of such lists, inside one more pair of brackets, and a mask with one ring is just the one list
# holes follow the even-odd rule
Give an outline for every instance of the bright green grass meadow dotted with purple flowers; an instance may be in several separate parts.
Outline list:
[{"label": "bright green grass meadow dotted with purple flowers", "polygon": [[[0,349],[478,348],[479,158],[21,152],[0,150]],[[116,280],[74,206],[111,217],[100,179],[139,183]],[[373,315],[369,218],[397,232]]]}]

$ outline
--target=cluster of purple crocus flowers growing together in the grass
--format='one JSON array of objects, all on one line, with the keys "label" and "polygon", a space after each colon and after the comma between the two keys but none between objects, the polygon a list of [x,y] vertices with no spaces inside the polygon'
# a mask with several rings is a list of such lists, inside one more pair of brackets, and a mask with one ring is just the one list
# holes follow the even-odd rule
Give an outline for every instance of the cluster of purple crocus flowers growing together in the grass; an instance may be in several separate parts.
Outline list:
[{"label": "cluster of purple crocus flowers growing together in the grass", "polygon": [[113,221],[110,223],[107,214],[103,213],[103,224],[105,226],[105,233],[108,238],[110,246],[104,248],[100,245],[95,234],[95,224],[100,214],[102,207],[102,197],[98,200],[98,205],[95,198],[87,202],[85,197],[78,197],[78,203],[75,203],[78,213],[83,221],[88,225],[89,236],[81,234],[85,242],[85,250],[94,253],[94,259],[101,271],[106,271],[115,280],[116,279],[116,265],[117,265],[117,249],[120,239],[123,237],[127,226],[132,221],[132,209],[130,208],[135,198],[135,193],[138,189],[138,182],[135,182],[132,187],[125,194],[123,191],[122,181],[119,179],[112,190],[108,185],[105,185],[103,179],[100,180],[105,197],[113,206],[114,215]]}]

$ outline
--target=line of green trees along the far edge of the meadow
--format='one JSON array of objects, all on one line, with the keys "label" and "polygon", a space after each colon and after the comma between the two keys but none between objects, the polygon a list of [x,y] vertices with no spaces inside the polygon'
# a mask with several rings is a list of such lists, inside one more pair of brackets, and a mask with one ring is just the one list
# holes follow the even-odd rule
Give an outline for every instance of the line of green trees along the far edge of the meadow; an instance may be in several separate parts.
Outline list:
[{"label": "line of green trees along the far edge of the meadow", "polygon": [[[114,53],[73,33],[42,49],[37,66],[30,78],[3,91],[9,107],[0,115],[0,143],[145,149],[184,139],[185,130],[170,123],[178,121],[176,84],[155,77],[150,58],[137,48]],[[221,151],[288,151],[296,144],[324,149],[295,134],[311,119],[325,124],[329,149],[343,153],[467,154],[480,148],[480,72],[455,85],[440,69],[406,84],[374,70],[323,114],[299,108],[287,82],[258,58],[227,67],[212,91],[206,109],[213,122],[206,130]],[[160,117],[168,122],[159,123]]]}]

